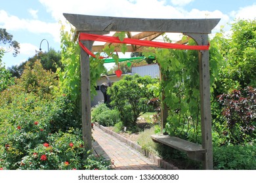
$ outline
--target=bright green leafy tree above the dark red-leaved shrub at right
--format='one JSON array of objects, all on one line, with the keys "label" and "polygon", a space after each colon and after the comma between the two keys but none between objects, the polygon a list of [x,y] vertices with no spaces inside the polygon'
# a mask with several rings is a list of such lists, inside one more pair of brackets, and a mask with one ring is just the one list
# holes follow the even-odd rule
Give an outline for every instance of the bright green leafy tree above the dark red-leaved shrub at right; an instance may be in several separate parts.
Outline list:
[{"label": "bright green leafy tree above the dark red-leaved shrub at right", "polygon": [[232,35],[225,38],[224,32],[215,36],[220,52],[225,59],[219,72],[217,93],[228,93],[246,86],[255,88],[255,42],[256,20],[237,20],[232,24]]}]

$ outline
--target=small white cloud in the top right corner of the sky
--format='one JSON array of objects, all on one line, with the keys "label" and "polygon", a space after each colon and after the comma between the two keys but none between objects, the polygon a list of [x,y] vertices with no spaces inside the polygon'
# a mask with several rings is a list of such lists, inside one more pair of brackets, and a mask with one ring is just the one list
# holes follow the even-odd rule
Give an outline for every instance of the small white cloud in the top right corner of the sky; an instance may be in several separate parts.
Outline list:
[{"label": "small white cloud in the top right corner of the sky", "polygon": [[236,19],[254,20],[256,18],[256,4],[232,11],[230,15]]}]

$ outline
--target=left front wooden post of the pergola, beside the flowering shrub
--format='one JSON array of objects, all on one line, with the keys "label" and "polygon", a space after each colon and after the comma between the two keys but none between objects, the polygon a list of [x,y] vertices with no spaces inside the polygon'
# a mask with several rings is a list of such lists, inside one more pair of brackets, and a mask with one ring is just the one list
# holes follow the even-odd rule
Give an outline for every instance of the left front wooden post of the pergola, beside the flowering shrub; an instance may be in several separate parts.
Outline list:
[{"label": "left front wooden post of the pergola, beside the flowering shrub", "polygon": [[[93,41],[81,41],[89,50],[93,48]],[[82,108],[82,128],[83,142],[85,148],[91,150],[91,82],[90,82],[90,61],[89,55],[81,48],[81,108]]]}]

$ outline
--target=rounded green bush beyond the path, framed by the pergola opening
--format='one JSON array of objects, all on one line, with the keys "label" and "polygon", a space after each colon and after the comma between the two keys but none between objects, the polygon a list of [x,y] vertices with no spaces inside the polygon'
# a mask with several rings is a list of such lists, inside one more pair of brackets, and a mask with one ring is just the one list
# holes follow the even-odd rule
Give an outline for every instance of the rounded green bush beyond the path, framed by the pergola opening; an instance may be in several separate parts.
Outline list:
[{"label": "rounded green bush beyond the path, framed by the pergola opening", "polygon": [[150,76],[126,75],[108,89],[112,107],[117,108],[126,127],[134,127],[137,118],[148,111],[148,101],[154,95],[148,91],[148,84],[158,82]]}]

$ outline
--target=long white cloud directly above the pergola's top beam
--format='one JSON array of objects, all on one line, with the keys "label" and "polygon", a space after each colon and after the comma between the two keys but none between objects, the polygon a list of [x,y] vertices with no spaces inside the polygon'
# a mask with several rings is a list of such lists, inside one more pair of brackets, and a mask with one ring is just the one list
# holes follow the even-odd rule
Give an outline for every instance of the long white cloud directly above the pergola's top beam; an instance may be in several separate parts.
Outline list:
[{"label": "long white cloud directly above the pergola's top beam", "polygon": [[[39,0],[45,6],[47,12],[51,13],[53,18],[66,21],[63,13],[88,14],[96,16],[119,16],[134,18],[221,18],[221,25],[226,25],[230,20],[228,15],[223,14],[219,10],[202,11],[192,9],[184,10],[182,7],[174,7],[167,5],[167,0],[73,0],[68,3],[62,0]],[[172,0],[173,5],[186,5],[194,0]]]}]

